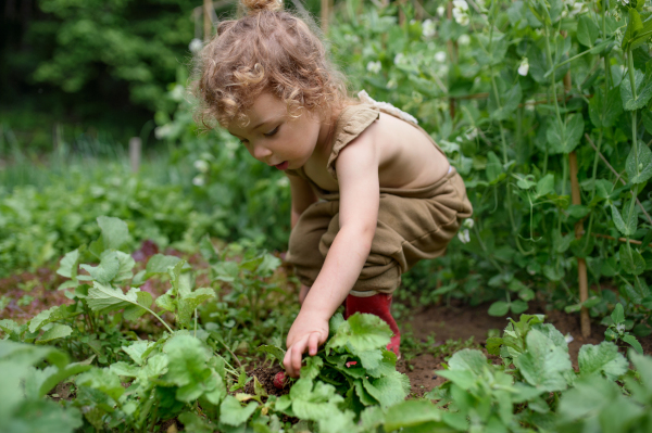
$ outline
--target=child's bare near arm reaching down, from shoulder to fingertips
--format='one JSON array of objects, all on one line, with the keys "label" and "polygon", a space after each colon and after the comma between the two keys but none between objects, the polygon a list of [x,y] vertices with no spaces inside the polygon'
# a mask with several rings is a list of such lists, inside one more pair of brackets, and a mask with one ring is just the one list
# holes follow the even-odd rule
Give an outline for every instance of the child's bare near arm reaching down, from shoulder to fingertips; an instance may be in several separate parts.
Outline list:
[{"label": "child's bare near arm reaching down, from shoulder to fingertips", "polygon": [[378,156],[374,142],[360,136],[336,161],[340,188],[340,230],[287,339],[284,359],[299,377],[301,356],[317,353],[328,338],[328,320],[349,294],[367,259],[378,220]]}]

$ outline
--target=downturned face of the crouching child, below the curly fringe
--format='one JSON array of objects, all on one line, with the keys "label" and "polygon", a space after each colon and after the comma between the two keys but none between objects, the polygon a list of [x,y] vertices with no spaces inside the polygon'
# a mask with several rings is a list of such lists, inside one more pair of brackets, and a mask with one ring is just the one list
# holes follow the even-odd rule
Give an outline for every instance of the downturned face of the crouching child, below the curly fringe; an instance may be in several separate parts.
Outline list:
[{"label": "downturned face of the crouching child, below the curly fringe", "polygon": [[228,131],[254,158],[278,169],[302,167],[325,141],[318,116],[304,111],[299,118],[289,118],[286,104],[272,93],[261,93],[244,114],[249,125],[233,122]]}]

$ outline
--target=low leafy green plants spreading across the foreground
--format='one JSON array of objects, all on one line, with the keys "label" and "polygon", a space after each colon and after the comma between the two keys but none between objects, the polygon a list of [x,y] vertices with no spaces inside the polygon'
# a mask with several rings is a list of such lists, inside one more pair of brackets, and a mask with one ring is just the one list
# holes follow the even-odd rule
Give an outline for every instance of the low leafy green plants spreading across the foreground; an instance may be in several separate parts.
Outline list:
[{"label": "low leafy green plants spreading across the foreground", "polygon": [[[409,380],[385,348],[389,327],[371,315],[336,314],[301,378],[271,386],[262,373],[278,371],[285,353],[274,341],[283,329],[267,331],[268,344],[240,357],[233,343],[247,327],[264,329],[274,308],[235,314],[230,324],[199,310],[218,298],[250,311],[250,304],[239,306],[242,284],[259,279],[259,290],[278,289],[278,258],[242,245],[216,250],[206,240],[208,280],[171,255],[152,255],[137,270],[127,225],[111,217],[98,225],[100,237],[60,263],[66,281],[59,289],[70,305],[27,323],[0,320],[7,431],[162,431],[166,422],[188,432],[644,432],[652,425],[652,358],[630,351],[629,370],[618,346],[605,341],[584,345],[574,371],[564,336],[540,315],[522,315],[488,340],[500,362],[462,349],[436,371],[448,382],[405,400]],[[200,280],[208,286],[197,288]],[[147,286],[152,281],[159,290]],[[273,367],[265,369],[267,362]]]}]

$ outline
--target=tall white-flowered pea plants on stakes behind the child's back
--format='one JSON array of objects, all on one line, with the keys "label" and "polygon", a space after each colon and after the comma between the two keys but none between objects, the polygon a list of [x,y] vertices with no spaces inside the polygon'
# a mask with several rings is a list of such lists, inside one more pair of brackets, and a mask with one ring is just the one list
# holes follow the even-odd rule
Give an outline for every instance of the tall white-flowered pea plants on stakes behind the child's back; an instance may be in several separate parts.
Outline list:
[{"label": "tall white-flowered pea plants on stakes behind the child's back", "polygon": [[650,2],[341,4],[333,49],[354,87],[415,115],[474,205],[408,283],[492,300],[496,316],[539,300],[600,319],[620,303],[648,335]]}]

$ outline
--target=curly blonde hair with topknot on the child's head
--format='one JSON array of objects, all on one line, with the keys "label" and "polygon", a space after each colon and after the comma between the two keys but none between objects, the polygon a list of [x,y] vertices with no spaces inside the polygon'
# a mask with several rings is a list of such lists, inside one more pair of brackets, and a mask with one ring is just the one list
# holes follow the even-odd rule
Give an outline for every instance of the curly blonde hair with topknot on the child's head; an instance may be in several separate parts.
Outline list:
[{"label": "curly blonde hair with topknot on the child's head", "polygon": [[316,30],[283,11],[280,0],[241,4],[248,14],[220,23],[196,60],[198,124],[211,128],[216,119],[226,127],[235,119],[247,125],[243,112],[265,91],[284,101],[293,118],[302,109],[328,113],[349,102],[343,75],[328,60]]}]

